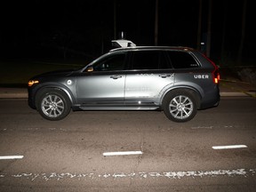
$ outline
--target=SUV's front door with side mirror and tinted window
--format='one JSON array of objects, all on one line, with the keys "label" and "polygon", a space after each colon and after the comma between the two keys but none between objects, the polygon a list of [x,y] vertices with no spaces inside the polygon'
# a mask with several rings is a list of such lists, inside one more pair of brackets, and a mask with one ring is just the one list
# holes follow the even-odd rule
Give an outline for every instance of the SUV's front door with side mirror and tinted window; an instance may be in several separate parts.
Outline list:
[{"label": "SUV's front door with side mirror and tinted window", "polygon": [[80,104],[111,105],[124,102],[125,54],[103,57],[76,79],[77,101]]}]

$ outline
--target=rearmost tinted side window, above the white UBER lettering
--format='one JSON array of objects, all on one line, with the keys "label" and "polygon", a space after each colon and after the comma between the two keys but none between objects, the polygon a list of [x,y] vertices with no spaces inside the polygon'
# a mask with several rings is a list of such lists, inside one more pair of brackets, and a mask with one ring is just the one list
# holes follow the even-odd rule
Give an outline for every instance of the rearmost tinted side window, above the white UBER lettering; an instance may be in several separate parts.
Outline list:
[{"label": "rearmost tinted side window, above the white UBER lettering", "polygon": [[167,52],[173,68],[198,68],[196,60],[188,52]]}]

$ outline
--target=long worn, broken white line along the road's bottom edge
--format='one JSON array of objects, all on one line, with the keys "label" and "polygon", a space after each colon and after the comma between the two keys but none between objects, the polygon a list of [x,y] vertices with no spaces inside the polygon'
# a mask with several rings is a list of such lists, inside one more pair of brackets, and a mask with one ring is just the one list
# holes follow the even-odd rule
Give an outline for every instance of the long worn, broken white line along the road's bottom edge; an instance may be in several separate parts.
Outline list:
[{"label": "long worn, broken white line along the road's bottom edge", "polygon": [[20,172],[16,174],[1,173],[0,178],[16,178],[26,180],[97,180],[97,179],[150,179],[150,178],[167,178],[171,180],[183,179],[183,178],[204,178],[204,177],[217,177],[217,176],[244,176],[244,177],[255,177],[256,169],[233,169],[233,170],[211,170],[211,171],[180,171],[180,172],[116,172],[116,173],[93,173],[93,172]]}]

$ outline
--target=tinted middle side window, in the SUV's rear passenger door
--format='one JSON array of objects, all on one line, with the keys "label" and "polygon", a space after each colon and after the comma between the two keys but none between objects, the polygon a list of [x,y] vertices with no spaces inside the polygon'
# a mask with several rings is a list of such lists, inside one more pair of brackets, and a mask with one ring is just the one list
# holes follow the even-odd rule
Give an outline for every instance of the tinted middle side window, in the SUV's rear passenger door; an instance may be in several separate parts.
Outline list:
[{"label": "tinted middle side window, in the SUV's rear passenger door", "polygon": [[164,57],[164,52],[138,51],[133,52],[132,69],[170,68]]}]

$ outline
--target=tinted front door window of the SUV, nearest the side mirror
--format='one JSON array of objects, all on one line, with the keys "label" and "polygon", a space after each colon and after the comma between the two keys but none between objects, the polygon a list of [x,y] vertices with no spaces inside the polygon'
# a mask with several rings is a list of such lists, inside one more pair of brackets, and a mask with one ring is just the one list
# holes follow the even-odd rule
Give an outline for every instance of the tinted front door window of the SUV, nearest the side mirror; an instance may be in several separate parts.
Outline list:
[{"label": "tinted front door window of the SUV, nearest the side mirror", "polygon": [[125,54],[115,54],[100,60],[93,66],[94,71],[113,71],[124,69]]}]

